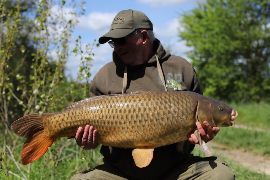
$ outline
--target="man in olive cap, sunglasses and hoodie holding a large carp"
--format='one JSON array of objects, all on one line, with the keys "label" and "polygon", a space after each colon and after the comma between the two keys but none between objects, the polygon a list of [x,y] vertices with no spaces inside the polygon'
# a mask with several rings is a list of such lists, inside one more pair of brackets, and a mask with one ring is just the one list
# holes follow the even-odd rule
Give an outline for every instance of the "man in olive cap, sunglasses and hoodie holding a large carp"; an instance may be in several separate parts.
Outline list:
[{"label": "man in olive cap, sunglasses and hoodie holding a large carp", "polygon": [[[109,42],[108,42],[109,41]],[[102,67],[93,79],[90,96],[143,91],[194,91],[202,94],[196,72],[184,58],[171,55],[154,37],[148,17],[136,10],[119,12],[108,33],[99,38],[114,48],[113,62]],[[208,142],[219,132],[204,122],[197,127]],[[76,133],[77,144],[95,149],[98,132],[87,125]],[[176,144],[155,148],[151,163],[134,166],[132,149],[101,147],[104,164],[74,175],[71,179],[235,179],[225,161],[217,157],[190,155],[198,139],[188,134],[183,152]]]}]

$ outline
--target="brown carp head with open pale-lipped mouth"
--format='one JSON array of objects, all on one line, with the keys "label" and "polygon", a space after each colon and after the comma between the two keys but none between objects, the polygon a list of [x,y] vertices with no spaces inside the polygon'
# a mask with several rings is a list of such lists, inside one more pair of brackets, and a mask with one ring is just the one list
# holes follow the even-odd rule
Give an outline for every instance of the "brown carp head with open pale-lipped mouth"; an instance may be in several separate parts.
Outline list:
[{"label": "brown carp head with open pale-lipped mouth", "polygon": [[196,114],[201,124],[207,121],[211,127],[232,126],[232,121],[238,116],[235,108],[213,99],[198,101]]}]

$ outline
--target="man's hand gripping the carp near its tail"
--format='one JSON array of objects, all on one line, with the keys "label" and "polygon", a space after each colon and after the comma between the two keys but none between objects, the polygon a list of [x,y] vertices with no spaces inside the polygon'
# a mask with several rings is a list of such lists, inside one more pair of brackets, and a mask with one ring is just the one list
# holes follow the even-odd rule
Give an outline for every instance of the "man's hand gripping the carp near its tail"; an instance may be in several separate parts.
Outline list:
[{"label": "man's hand gripping the carp near its tail", "polygon": [[96,149],[99,146],[97,142],[97,131],[94,130],[93,126],[86,125],[84,131],[82,127],[79,127],[75,135],[75,140],[77,145],[83,149]]}]

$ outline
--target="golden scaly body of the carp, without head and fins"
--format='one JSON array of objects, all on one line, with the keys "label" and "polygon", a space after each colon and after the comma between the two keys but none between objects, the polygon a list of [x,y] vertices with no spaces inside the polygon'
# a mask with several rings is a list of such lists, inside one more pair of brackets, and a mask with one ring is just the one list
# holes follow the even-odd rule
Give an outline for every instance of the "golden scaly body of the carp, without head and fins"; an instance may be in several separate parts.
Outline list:
[{"label": "golden scaly body of the carp, without head and fins", "polygon": [[[183,134],[195,127],[195,116],[187,116],[187,113],[194,113],[187,110],[195,110],[190,107],[196,107],[197,100],[189,100],[187,104],[188,99],[191,98],[171,92],[83,101],[75,108],[48,116],[48,121],[44,121],[44,131],[52,138],[72,136],[78,125],[89,124],[98,131],[98,142],[105,146],[164,146],[183,140]],[[50,128],[51,125],[55,127]],[[181,132],[175,136],[175,131]]]}]

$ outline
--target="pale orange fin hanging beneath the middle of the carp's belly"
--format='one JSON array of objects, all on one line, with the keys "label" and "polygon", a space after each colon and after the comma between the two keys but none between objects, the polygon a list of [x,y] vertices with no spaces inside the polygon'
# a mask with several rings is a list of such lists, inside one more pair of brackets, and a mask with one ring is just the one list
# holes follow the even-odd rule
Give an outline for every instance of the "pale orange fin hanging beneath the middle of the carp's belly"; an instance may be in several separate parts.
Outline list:
[{"label": "pale orange fin hanging beneath the middle of the carp's belly", "polygon": [[138,167],[146,167],[150,164],[153,159],[153,147],[141,147],[137,149],[133,149],[132,156],[133,160]]}]

